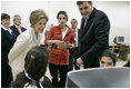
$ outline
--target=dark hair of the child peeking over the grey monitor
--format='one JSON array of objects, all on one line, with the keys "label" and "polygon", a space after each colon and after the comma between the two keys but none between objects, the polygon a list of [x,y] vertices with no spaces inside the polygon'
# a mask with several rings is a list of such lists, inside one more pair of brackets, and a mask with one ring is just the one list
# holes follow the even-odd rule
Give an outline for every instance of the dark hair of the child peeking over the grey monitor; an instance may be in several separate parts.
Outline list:
[{"label": "dark hair of the child peeking over the grey monitor", "polygon": [[115,65],[117,63],[117,56],[113,51],[111,50],[104,50],[103,53],[101,55],[101,57],[99,58],[99,60],[101,60],[102,57],[110,57],[113,61],[113,63]]}]

